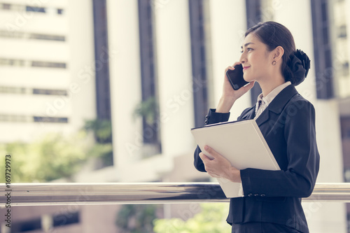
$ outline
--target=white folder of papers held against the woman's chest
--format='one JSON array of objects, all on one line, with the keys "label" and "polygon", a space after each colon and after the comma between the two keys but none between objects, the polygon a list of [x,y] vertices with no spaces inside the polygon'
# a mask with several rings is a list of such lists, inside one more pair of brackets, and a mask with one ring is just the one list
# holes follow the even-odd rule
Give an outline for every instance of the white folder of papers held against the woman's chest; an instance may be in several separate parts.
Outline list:
[{"label": "white folder of papers held against the woman's chest", "polygon": [[[264,136],[255,120],[222,122],[191,129],[198,146],[208,157],[204,146],[210,146],[226,157],[237,169],[255,168],[279,170]],[[233,183],[225,178],[218,178],[226,197],[241,197],[241,183]]]}]

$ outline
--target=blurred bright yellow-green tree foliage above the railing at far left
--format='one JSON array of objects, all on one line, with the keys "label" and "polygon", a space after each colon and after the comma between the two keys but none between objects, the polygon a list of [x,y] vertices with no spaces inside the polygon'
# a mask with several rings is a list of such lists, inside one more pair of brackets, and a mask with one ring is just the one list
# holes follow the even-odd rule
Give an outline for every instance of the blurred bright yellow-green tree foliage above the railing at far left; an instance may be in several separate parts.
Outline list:
[{"label": "blurred bright yellow-green tree foliage above the railing at far left", "polygon": [[76,173],[86,160],[82,137],[80,134],[67,139],[60,134],[48,134],[30,144],[1,144],[0,153],[11,155],[11,182],[52,181]]}]

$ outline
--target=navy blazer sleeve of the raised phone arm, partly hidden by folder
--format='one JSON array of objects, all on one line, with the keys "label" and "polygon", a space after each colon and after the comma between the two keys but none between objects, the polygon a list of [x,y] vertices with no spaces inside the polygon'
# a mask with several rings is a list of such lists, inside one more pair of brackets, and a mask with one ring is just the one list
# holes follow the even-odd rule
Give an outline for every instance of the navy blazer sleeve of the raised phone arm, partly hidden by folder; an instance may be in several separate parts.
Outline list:
[{"label": "navy blazer sleeve of the raised phone arm, partly hidden by folder", "polygon": [[[216,113],[216,109],[215,108],[210,108],[209,109],[209,113],[208,115],[206,115],[206,120],[204,122],[205,125],[210,125],[210,124],[215,124],[215,123],[219,123],[219,122],[226,122],[228,121],[228,119],[230,118],[230,113]],[[202,150],[200,150],[200,147],[197,146],[197,148],[195,149],[195,168],[198,171],[203,171],[206,172],[204,169],[204,163],[202,161],[202,159],[200,158],[200,153],[202,152]]]}]

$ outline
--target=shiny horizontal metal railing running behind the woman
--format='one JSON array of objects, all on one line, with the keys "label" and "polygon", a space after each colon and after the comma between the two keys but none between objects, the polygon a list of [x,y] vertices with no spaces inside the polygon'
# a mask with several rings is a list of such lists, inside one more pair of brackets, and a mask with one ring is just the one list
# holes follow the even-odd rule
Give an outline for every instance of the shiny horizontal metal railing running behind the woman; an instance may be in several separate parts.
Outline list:
[{"label": "shiny horizontal metal railing running behind the woman", "polygon": [[[228,202],[218,183],[1,184],[0,206]],[[303,201],[350,202],[350,183],[317,183]]]}]

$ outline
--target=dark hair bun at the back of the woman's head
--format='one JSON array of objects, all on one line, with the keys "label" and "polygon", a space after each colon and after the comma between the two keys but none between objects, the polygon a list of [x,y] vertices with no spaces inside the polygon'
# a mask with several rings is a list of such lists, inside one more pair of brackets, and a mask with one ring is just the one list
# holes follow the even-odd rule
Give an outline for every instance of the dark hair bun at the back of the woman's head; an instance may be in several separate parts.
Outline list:
[{"label": "dark hair bun at the back of the woman's head", "polygon": [[296,50],[294,54],[290,55],[287,65],[293,73],[293,78],[291,78],[290,82],[296,86],[302,83],[307,73],[309,73],[310,59],[302,50]]}]

